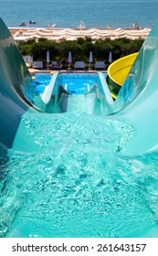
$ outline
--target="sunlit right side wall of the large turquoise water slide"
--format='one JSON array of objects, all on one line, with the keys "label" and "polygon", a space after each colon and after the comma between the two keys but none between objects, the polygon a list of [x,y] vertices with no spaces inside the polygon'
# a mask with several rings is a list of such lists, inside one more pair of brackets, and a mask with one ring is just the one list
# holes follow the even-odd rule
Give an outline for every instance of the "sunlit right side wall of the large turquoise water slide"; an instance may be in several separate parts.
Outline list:
[{"label": "sunlit right side wall of the large turquoise water slide", "polygon": [[158,23],[145,39],[115,101],[115,118],[132,123],[135,130],[123,150],[125,155],[140,155],[158,149],[157,57]]}]

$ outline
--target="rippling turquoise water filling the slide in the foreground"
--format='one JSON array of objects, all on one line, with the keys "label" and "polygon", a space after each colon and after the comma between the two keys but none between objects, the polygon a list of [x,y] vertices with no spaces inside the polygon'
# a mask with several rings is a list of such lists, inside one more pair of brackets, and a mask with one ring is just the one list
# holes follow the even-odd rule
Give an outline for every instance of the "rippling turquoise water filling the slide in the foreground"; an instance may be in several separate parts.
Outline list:
[{"label": "rippling turquoise water filling the slide in the foreground", "polygon": [[120,155],[134,127],[80,112],[22,122],[41,151],[7,152],[1,237],[16,226],[30,237],[157,236],[157,152]]}]

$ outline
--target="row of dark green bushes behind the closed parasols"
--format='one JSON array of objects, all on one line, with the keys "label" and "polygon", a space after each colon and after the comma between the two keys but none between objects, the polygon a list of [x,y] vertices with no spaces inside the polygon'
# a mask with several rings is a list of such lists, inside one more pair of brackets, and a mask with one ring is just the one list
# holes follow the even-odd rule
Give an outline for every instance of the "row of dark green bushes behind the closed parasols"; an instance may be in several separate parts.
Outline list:
[{"label": "row of dark green bushes behind the closed parasols", "polygon": [[95,60],[103,60],[108,62],[109,52],[112,51],[112,59],[119,59],[123,56],[138,52],[142,47],[143,39],[136,40],[128,38],[102,38],[93,41],[91,37],[78,38],[73,41],[54,41],[40,38],[38,41],[34,39],[26,42],[20,42],[17,46],[22,55],[31,55],[35,60],[46,60],[47,50],[50,52],[52,60],[68,61],[68,51],[72,52],[73,62],[75,60],[89,61],[90,51],[93,52]]}]

